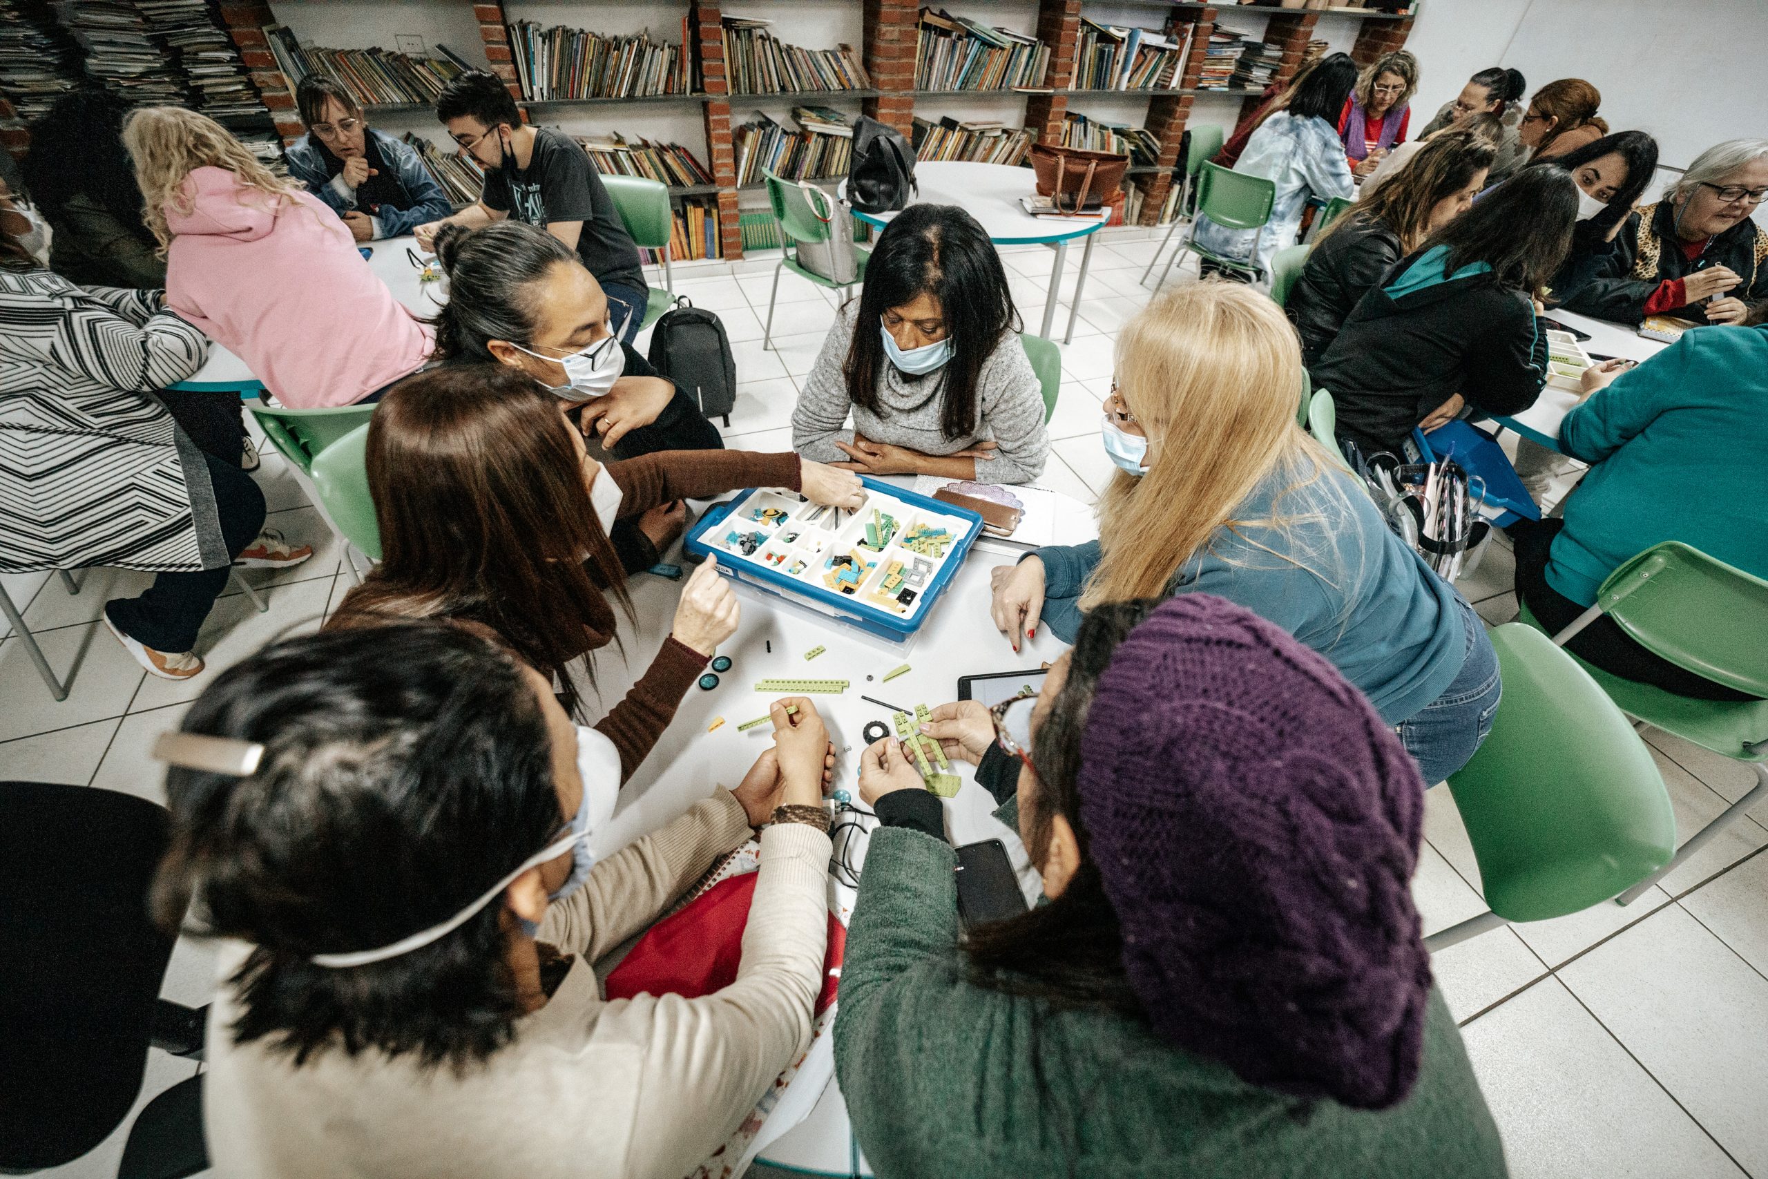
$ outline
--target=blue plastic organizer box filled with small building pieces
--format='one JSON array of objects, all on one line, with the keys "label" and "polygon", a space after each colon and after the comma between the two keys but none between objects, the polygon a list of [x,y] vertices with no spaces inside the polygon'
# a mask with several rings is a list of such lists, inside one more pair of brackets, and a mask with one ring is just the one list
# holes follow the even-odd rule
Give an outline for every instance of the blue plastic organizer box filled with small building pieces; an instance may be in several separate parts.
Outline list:
[{"label": "blue plastic organizer box filled with small building pieces", "polygon": [[[713,504],[688,532],[691,557],[720,573],[891,642],[921,629],[983,529],[983,518],[877,479],[854,513],[792,491],[751,488]],[[914,544],[914,548],[911,548]]]}]

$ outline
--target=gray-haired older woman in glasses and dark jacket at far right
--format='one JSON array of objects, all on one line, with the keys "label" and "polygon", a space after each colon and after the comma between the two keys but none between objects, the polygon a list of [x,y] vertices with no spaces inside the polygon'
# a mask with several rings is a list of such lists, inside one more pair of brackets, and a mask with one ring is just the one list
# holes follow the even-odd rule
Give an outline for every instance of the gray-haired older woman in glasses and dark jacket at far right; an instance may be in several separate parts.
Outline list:
[{"label": "gray-haired older woman in glasses and dark jacket at far right", "polygon": [[1614,249],[1566,300],[1572,311],[1641,323],[1759,323],[1768,315],[1768,230],[1750,217],[1768,198],[1768,140],[1701,152],[1655,205],[1621,226]]}]

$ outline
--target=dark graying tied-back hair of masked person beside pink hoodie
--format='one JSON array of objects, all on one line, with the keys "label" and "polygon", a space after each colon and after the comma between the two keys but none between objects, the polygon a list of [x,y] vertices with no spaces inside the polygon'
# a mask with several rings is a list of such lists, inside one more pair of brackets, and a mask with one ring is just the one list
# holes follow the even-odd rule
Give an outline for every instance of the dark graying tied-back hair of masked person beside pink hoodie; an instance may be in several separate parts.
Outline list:
[{"label": "dark graying tied-back hair of masked person beside pink hoodie", "polygon": [[449,279],[449,299],[430,320],[444,362],[495,361],[484,346],[492,339],[532,341],[539,311],[532,285],[560,262],[578,262],[575,249],[522,221],[446,224],[435,251]]}]

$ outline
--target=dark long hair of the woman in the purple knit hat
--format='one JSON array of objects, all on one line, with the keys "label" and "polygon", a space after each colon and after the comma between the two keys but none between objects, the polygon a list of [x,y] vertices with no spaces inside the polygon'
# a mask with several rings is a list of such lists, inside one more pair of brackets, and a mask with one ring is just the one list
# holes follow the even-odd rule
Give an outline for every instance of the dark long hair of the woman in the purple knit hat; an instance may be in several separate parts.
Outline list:
[{"label": "dark long hair of the woman in the purple knit hat", "polygon": [[1033,827],[1027,848],[1041,859],[1055,815],[1080,840],[1080,868],[1063,894],[1018,917],[969,932],[964,942],[967,976],[978,986],[1027,995],[1054,1008],[1101,1009],[1146,1018],[1123,969],[1123,930],[1105,896],[1105,882],[1087,856],[1080,822],[1080,735],[1098,679],[1117,645],[1160,599],[1105,603],[1087,612],[1068,659],[1068,681],[1033,737],[1036,767]]}]

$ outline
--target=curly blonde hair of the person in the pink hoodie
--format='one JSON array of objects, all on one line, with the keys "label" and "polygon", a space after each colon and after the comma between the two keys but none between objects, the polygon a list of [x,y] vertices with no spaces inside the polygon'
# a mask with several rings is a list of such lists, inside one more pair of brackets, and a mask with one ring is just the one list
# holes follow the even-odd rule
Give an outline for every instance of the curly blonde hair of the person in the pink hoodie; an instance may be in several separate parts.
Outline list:
[{"label": "curly blonde hair of the person in the pink hoodie", "polygon": [[171,246],[166,210],[191,210],[184,180],[198,168],[225,168],[239,182],[283,205],[301,186],[279,177],[246,150],[246,145],[207,115],[182,106],[143,106],[122,124],[122,145],[134,161],[134,180],[141,187],[141,221],[159,242],[159,256]]}]

